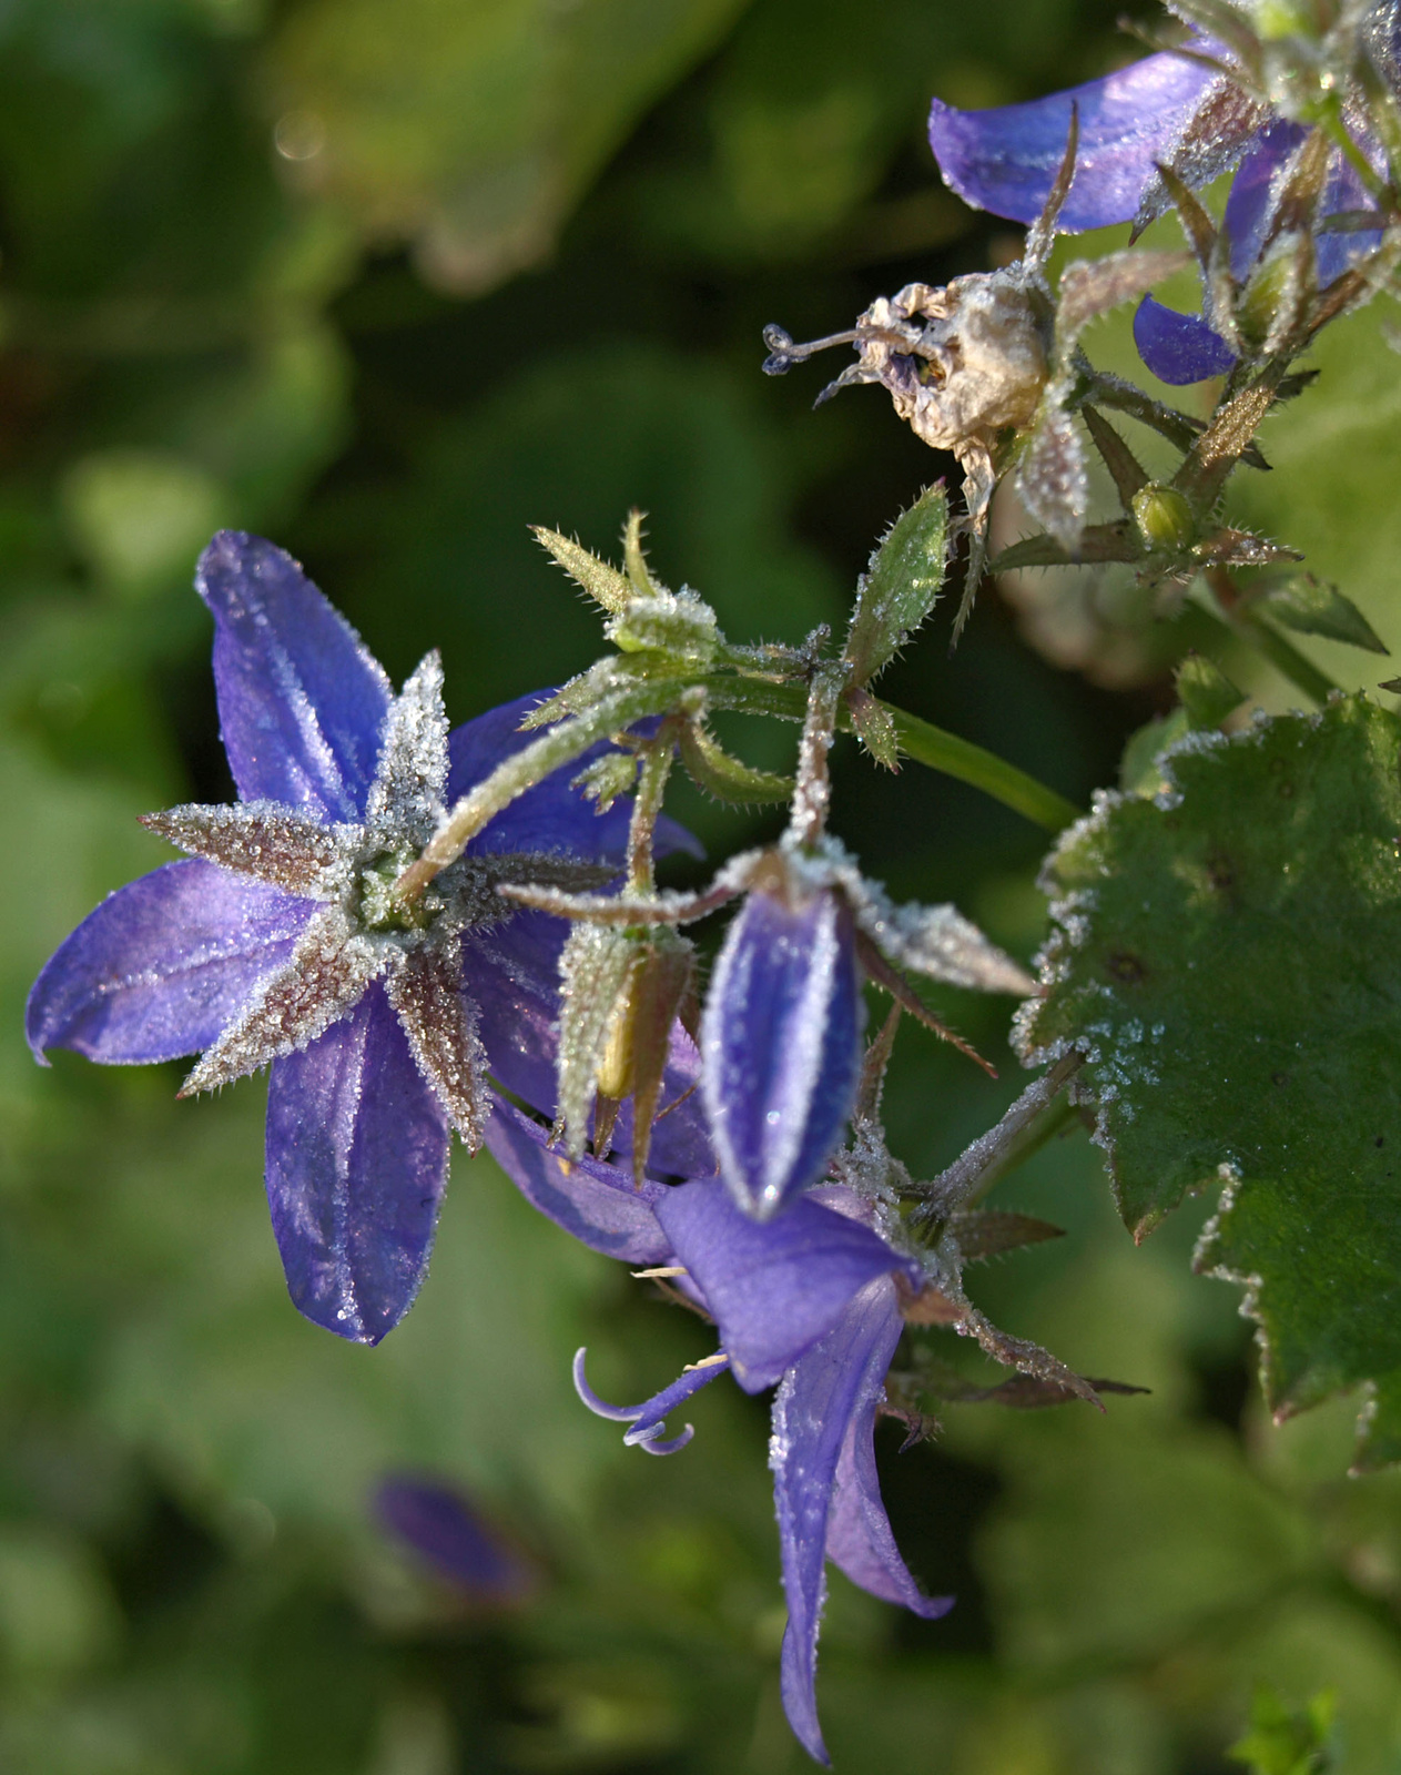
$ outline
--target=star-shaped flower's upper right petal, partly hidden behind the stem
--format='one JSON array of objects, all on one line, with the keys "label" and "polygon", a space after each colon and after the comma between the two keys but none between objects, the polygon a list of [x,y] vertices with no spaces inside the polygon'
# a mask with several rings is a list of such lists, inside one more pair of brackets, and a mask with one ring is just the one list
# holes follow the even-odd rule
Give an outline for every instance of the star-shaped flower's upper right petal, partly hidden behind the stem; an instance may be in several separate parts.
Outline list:
[{"label": "star-shaped flower's upper right petal, partly hidden behind the stem", "polygon": [[[520,722],[550,694],[550,690],[531,690],[527,696],[518,696],[513,703],[501,703],[499,708],[490,708],[476,721],[453,730],[447,738],[449,804],[488,777],[504,758],[540,738],[538,731],[522,733]],[[536,783],[533,790],[503,808],[472,840],[467,854],[565,850],[579,857],[618,857],[621,861],[627,852],[630,802],[618,801],[607,813],[598,813],[584,792],[572,786],[579,772],[606,751],[609,751],[607,742],[595,746],[572,765],[563,765],[543,783]],[[662,818],[657,825],[657,856],[668,856],[673,850],[705,856],[701,845],[685,827]]]}]

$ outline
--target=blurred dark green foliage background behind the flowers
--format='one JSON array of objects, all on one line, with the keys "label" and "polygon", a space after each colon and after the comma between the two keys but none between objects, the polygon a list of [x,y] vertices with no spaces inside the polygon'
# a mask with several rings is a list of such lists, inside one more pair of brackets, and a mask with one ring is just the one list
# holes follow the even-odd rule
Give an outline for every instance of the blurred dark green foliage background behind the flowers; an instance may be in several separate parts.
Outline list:
[{"label": "blurred dark green foliage background behind the flowers", "polygon": [[[0,5],[0,1768],[804,1766],[764,1402],[708,1390],[657,1463],[568,1383],[590,1344],[600,1392],[645,1397],[705,1353],[698,1321],[483,1159],[408,1321],[341,1345],[282,1289],[261,1085],[176,1104],[179,1069],[41,1072],[20,1012],[67,928],[162,859],[133,816],[229,792],[190,591],[220,524],[302,557],[396,676],[442,646],[455,719],[598,648],[531,520],[607,552],[641,504],[661,575],[737,639],[840,621],[875,534],[952,463],[879,390],[810,414],[819,371],[765,382],[760,327],[829,332],[1016,252],[938,183],[929,94],[1103,73],[1115,11]],[[1101,339],[1126,367],[1122,327]],[[1314,564],[1397,637],[1401,378],[1369,316],[1319,355],[1243,509],[1312,525]],[[1083,801],[1165,706],[1175,643],[1133,632],[1122,588],[1021,602],[1062,664],[984,596],[954,660],[934,634],[888,689]],[[771,761],[792,735],[737,740]],[[836,776],[874,873],[1030,955],[1041,834],[918,767]],[[712,854],[774,825],[677,811]],[[1007,1006],[945,1008],[1003,1079],[902,1037],[891,1141],[925,1175],[1017,1085]],[[883,1425],[900,1542],[959,1606],[916,1622],[833,1576],[836,1768],[1220,1775],[1268,1681],[1291,1706],[1334,1686],[1339,1766],[1401,1770],[1401,1480],[1342,1479],[1351,1408],[1266,1425],[1234,1292],[1190,1274],[1195,1225],[1133,1250],[1083,1136],[1000,1200],[1069,1237],[975,1274],[982,1305],[1152,1392],[1104,1418],[955,1408],[909,1454]],[[369,1496],[403,1471],[463,1486],[533,1598],[492,1612],[392,1546]]]}]

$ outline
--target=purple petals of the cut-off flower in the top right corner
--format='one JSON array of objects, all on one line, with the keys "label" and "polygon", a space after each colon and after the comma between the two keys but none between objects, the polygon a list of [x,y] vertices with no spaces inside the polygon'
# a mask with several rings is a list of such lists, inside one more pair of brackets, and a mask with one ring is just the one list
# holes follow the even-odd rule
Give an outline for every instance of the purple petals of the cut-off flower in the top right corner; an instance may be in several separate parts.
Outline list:
[{"label": "purple petals of the cut-off flower in the top right corner", "polygon": [[[1225,53],[1207,41],[1200,48]],[[1381,60],[1390,76],[1385,55]],[[1103,80],[1026,105],[961,112],[936,99],[929,140],[945,183],[978,209],[1033,222],[1060,167],[1073,103],[1080,117],[1080,147],[1060,227],[1080,233],[1117,222],[1142,225],[1168,206],[1160,165],[1200,186],[1239,162],[1225,227],[1231,270],[1243,282],[1266,243],[1278,174],[1307,130],[1275,117],[1270,106],[1213,67],[1172,53],[1149,55]],[[1353,128],[1365,146],[1365,124],[1353,119]],[[1367,202],[1357,172],[1334,151],[1323,213],[1355,211]],[[1378,240],[1380,234],[1369,231],[1321,233],[1319,288],[1371,252]],[[1144,296],[1133,334],[1140,357],[1163,382],[1202,382],[1236,362],[1207,320],[1163,307],[1154,296]]]}]

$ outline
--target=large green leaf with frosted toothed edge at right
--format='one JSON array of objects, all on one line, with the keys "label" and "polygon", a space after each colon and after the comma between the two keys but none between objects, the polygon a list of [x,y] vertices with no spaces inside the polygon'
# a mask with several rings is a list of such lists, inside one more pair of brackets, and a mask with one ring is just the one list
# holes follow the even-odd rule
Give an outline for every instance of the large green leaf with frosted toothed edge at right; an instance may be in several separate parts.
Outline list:
[{"label": "large green leaf with frosted toothed edge at right", "polygon": [[1165,770],[1046,864],[1023,1058],[1085,1053],[1136,1239],[1223,1186],[1197,1267],[1245,1285],[1273,1411],[1373,1383],[1358,1468],[1401,1461],[1401,724],[1339,696]]}]

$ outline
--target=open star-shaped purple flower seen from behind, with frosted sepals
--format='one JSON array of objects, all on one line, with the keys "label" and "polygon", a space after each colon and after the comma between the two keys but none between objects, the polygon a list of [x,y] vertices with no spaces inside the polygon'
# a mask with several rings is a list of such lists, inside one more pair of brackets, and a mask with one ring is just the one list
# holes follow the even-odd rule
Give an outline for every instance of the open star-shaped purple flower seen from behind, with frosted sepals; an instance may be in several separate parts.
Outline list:
[{"label": "open star-shaped purple flower seen from behind, with frosted sepals", "polygon": [[[437,657],[396,698],[297,563],[254,536],[220,532],[195,586],[240,801],[147,822],[190,859],[107,898],[59,948],[28,1042],[41,1061],[202,1051],[185,1092],[272,1063],[266,1186],[291,1298],[375,1344],[423,1280],[449,1131],[483,1140],[487,1070],[554,1108],[563,930],[510,912],[495,884],[600,886],[627,813],[600,818],[558,772],[405,911],[392,882],[442,806],[529,738],[517,730],[538,698],[449,735]],[[694,1157],[694,1118],[673,1145]]]}]

